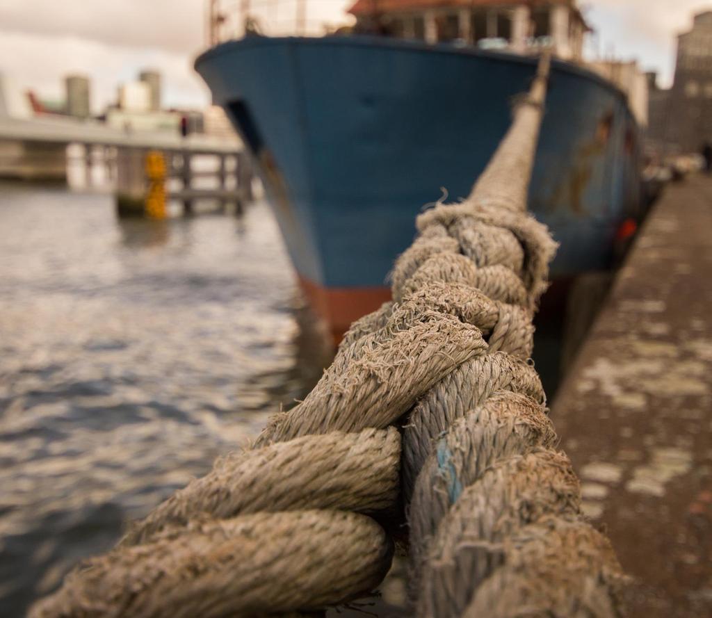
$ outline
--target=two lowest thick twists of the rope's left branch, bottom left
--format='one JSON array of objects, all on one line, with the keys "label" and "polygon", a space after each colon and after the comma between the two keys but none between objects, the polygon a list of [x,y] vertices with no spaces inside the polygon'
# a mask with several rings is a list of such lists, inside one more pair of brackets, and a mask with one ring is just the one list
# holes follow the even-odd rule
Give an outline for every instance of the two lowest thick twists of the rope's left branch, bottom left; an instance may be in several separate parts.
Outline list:
[{"label": "two lowest thick twists of the rope's left branch, bottom left", "polygon": [[347,602],[389,569],[392,541],[365,514],[393,512],[399,459],[393,428],[230,454],[30,616],[248,617]]}]

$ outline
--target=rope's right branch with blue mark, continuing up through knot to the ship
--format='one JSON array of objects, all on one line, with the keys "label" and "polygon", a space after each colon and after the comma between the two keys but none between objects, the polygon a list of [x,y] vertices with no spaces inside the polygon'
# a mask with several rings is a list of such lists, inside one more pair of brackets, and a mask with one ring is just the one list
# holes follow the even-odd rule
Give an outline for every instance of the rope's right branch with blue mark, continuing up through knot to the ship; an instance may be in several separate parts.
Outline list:
[{"label": "rope's right branch with blue mark, continuing up through knot to the ship", "polygon": [[[404,426],[409,592],[419,617],[619,615],[619,564],[582,518],[577,478],[555,451],[527,362],[531,312],[555,249],[525,212],[547,65],[471,196],[419,216],[420,236],[392,273],[395,303],[347,335],[350,343],[382,331],[419,298],[446,305],[486,340],[419,399]],[[464,310],[465,298],[478,310]]]}]

